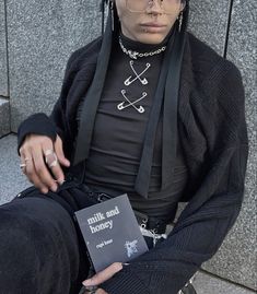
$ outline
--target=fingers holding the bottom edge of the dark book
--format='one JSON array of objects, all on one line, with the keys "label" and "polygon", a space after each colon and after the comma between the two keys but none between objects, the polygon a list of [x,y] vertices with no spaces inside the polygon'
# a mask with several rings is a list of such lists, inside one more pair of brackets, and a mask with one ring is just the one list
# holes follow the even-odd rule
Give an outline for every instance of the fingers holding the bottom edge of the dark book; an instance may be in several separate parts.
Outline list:
[{"label": "fingers holding the bottom edge of the dark book", "polygon": [[121,262],[114,262],[108,268],[104,269],[103,271],[96,273],[91,279],[87,279],[83,282],[85,286],[94,286],[104,283],[105,281],[109,280],[115,273],[119,272],[122,269]]}]

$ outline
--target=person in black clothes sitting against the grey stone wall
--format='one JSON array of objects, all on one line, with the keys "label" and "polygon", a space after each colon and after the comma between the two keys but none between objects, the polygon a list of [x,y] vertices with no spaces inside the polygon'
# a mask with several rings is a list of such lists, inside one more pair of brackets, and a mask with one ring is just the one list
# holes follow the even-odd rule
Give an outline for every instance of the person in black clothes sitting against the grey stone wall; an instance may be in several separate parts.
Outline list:
[{"label": "person in black clothes sitting against the grey stone wall", "polygon": [[[103,12],[105,11],[103,1]],[[113,0],[74,51],[51,115],[19,128],[33,187],[0,207],[0,293],[177,294],[242,205],[248,142],[237,68],[187,32],[189,1]],[[127,193],[166,239],[86,279],[75,211]],[[154,239],[153,239],[154,240]],[[154,246],[155,245],[155,246]]]}]

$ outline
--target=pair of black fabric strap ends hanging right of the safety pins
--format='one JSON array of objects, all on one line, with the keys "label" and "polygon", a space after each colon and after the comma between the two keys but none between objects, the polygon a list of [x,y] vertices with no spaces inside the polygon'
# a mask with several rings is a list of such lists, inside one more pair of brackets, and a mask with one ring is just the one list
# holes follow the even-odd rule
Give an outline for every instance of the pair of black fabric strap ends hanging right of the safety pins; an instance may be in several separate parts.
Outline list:
[{"label": "pair of black fabric strap ends hanging right of the safety pins", "polygon": [[[171,183],[176,160],[177,145],[177,104],[182,59],[184,52],[184,36],[178,37],[175,30],[164,56],[159,85],[152,105],[149,124],[145,131],[144,145],[136,179],[136,191],[148,198],[151,179],[151,168],[157,121],[161,106],[163,107],[163,144],[162,144],[162,187],[165,189]],[[163,93],[164,91],[164,93]],[[164,98],[163,98],[164,97]],[[164,102],[163,102],[164,101]]]}]

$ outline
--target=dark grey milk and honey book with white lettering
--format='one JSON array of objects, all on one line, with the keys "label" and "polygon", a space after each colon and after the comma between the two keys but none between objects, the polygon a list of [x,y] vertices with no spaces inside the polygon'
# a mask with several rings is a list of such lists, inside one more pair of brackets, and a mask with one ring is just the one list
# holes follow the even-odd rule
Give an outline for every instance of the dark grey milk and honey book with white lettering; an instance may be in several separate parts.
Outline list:
[{"label": "dark grey milk and honey book with white lettering", "polygon": [[96,272],[148,251],[127,195],[75,212]]}]

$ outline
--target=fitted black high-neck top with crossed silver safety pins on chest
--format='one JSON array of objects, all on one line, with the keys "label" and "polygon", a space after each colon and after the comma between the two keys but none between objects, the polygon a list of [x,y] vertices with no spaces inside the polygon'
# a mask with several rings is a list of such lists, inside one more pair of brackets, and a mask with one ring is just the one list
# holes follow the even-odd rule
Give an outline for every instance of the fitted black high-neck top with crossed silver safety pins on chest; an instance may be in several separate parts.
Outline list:
[{"label": "fitted black high-neck top with crossed silver safety pins on chest", "polygon": [[[139,52],[153,52],[165,46],[165,40],[159,45],[145,45],[124,36],[121,42],[126,49]],[[178,142],[173,181],[165,190],[160,190],[162,119],[155,137],[149,199],[135,191],[145,127],[162,60],[163,52],[133,60],[119,45],[116,46],[97,108],[85,183],[114,196],[127,192],[135,209],[172,221],[187,181],[187,168]],[[141,101],[136,102],[143,95]]]}]

